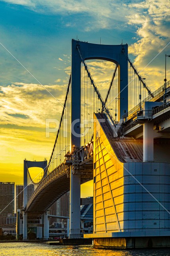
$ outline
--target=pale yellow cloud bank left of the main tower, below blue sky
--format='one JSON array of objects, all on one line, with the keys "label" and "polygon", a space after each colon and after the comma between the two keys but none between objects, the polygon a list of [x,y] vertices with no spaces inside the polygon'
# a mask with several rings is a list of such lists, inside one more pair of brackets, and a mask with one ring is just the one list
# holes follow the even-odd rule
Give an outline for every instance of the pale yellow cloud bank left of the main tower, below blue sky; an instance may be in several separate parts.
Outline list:
[{"label": "pale yellow cloud bank left of the main tower, below blue sky", "polygon": [[24,83],[0,86],[1,124],[45,128],[46,118],[60,119],[66,88],[66,85],[43,87],[40,84]]}]

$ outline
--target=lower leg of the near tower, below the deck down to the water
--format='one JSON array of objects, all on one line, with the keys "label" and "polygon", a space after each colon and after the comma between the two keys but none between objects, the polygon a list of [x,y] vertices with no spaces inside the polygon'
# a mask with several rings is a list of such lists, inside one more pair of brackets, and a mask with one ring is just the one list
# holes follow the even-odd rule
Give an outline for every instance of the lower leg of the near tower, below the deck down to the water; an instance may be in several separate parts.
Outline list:
[{"label": "lower leg of the near tower, below the deck down to the water", "polygon": [[80,174],[70,174],[70,234],[69,238],[81,238],[80,234]]}]

